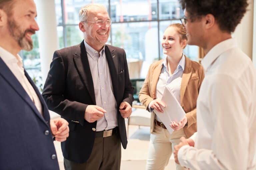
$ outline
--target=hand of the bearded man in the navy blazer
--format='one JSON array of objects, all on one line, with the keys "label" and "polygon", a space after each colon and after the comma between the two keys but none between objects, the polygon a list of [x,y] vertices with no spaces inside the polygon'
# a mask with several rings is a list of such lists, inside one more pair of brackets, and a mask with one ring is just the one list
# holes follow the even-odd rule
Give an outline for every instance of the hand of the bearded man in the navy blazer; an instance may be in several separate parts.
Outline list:
[{"label": "hand of the bearded man in the navy blazer", "polygon": [[68,122],[63,118],[50,120],[50,128],[57,141],[63,142],[69,136]]}]

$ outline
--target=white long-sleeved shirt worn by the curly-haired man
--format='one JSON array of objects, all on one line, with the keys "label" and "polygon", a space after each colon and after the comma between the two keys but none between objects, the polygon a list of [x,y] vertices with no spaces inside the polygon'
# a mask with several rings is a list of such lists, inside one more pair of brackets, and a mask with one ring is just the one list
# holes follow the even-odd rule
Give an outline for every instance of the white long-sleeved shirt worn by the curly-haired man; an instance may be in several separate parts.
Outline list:
[{"label": "white long-sleeved shirt worn by the curly-haired man", "polygon": [[215,45],[202,60],[205,78],[197,99],[195,147],[178,151],[181,166],[202,170],[255,169],[256,71],[234,39]]}]

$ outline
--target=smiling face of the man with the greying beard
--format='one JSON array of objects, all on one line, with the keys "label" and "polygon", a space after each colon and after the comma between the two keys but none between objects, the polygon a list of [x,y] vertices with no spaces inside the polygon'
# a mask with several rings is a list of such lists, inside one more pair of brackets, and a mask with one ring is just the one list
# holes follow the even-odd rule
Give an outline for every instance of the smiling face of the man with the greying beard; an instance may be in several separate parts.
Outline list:
[{"label": "smiling face of the man with the greying beard", "polygon": [[31,50],[33,48],[31,36],[39,30],[35,21],[37,13],[34,1],[16,1],[10,15],[8,16],[7,27],[11,39],[16,42],[15,46],[19,50]]}]

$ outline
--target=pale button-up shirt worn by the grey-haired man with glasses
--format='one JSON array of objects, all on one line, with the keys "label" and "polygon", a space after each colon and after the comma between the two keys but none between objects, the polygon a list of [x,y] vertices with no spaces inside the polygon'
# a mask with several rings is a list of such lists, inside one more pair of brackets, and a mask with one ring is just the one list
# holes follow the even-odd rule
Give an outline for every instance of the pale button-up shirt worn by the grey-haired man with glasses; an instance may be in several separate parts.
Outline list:
[{"label": "pale button-up shirt worn by the grey-haired man with glasses", "polygon": [[97,121],[96,131],[115,128],[118,126],[117,103],[105,54],[105,46],[98,52],[85,41],[84,44],[92,74],[96,105],[107,111],[104,116]]}]

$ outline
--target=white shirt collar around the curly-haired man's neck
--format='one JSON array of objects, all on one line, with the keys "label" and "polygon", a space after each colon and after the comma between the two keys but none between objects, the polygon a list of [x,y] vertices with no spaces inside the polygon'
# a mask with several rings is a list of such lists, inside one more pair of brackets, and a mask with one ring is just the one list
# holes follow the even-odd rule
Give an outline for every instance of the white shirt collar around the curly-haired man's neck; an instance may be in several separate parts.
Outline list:
[{"label": "white shirt collar around the curly-haired man's neck", "polygon": [[225,51],[229,50],[230,48],[237,47],[236,40],[231,38],[225,41],[222,41],[212,47],[210,51],[205,55],[203,60],[201,61],[204,70],[206,71],[210,65]]}]

